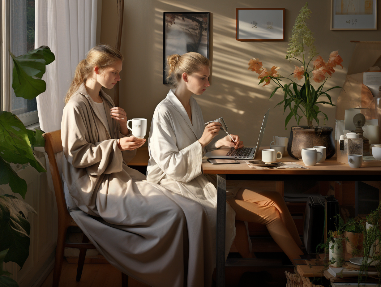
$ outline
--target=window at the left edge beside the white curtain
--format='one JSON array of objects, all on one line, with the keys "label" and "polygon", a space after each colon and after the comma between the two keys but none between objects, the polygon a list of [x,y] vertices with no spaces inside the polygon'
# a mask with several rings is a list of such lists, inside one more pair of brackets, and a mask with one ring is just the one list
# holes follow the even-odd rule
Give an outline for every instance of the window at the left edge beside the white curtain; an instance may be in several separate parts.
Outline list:
[{"label": "window at the left edge beside the white curtain", "polygon": [[16,97],[11,87],[13,61],[8,53],[19,56],[34,49],[35,0],[3,1],[3,105],[4,111],[17,115],[24,125],[38,122],[36,99]]}]

